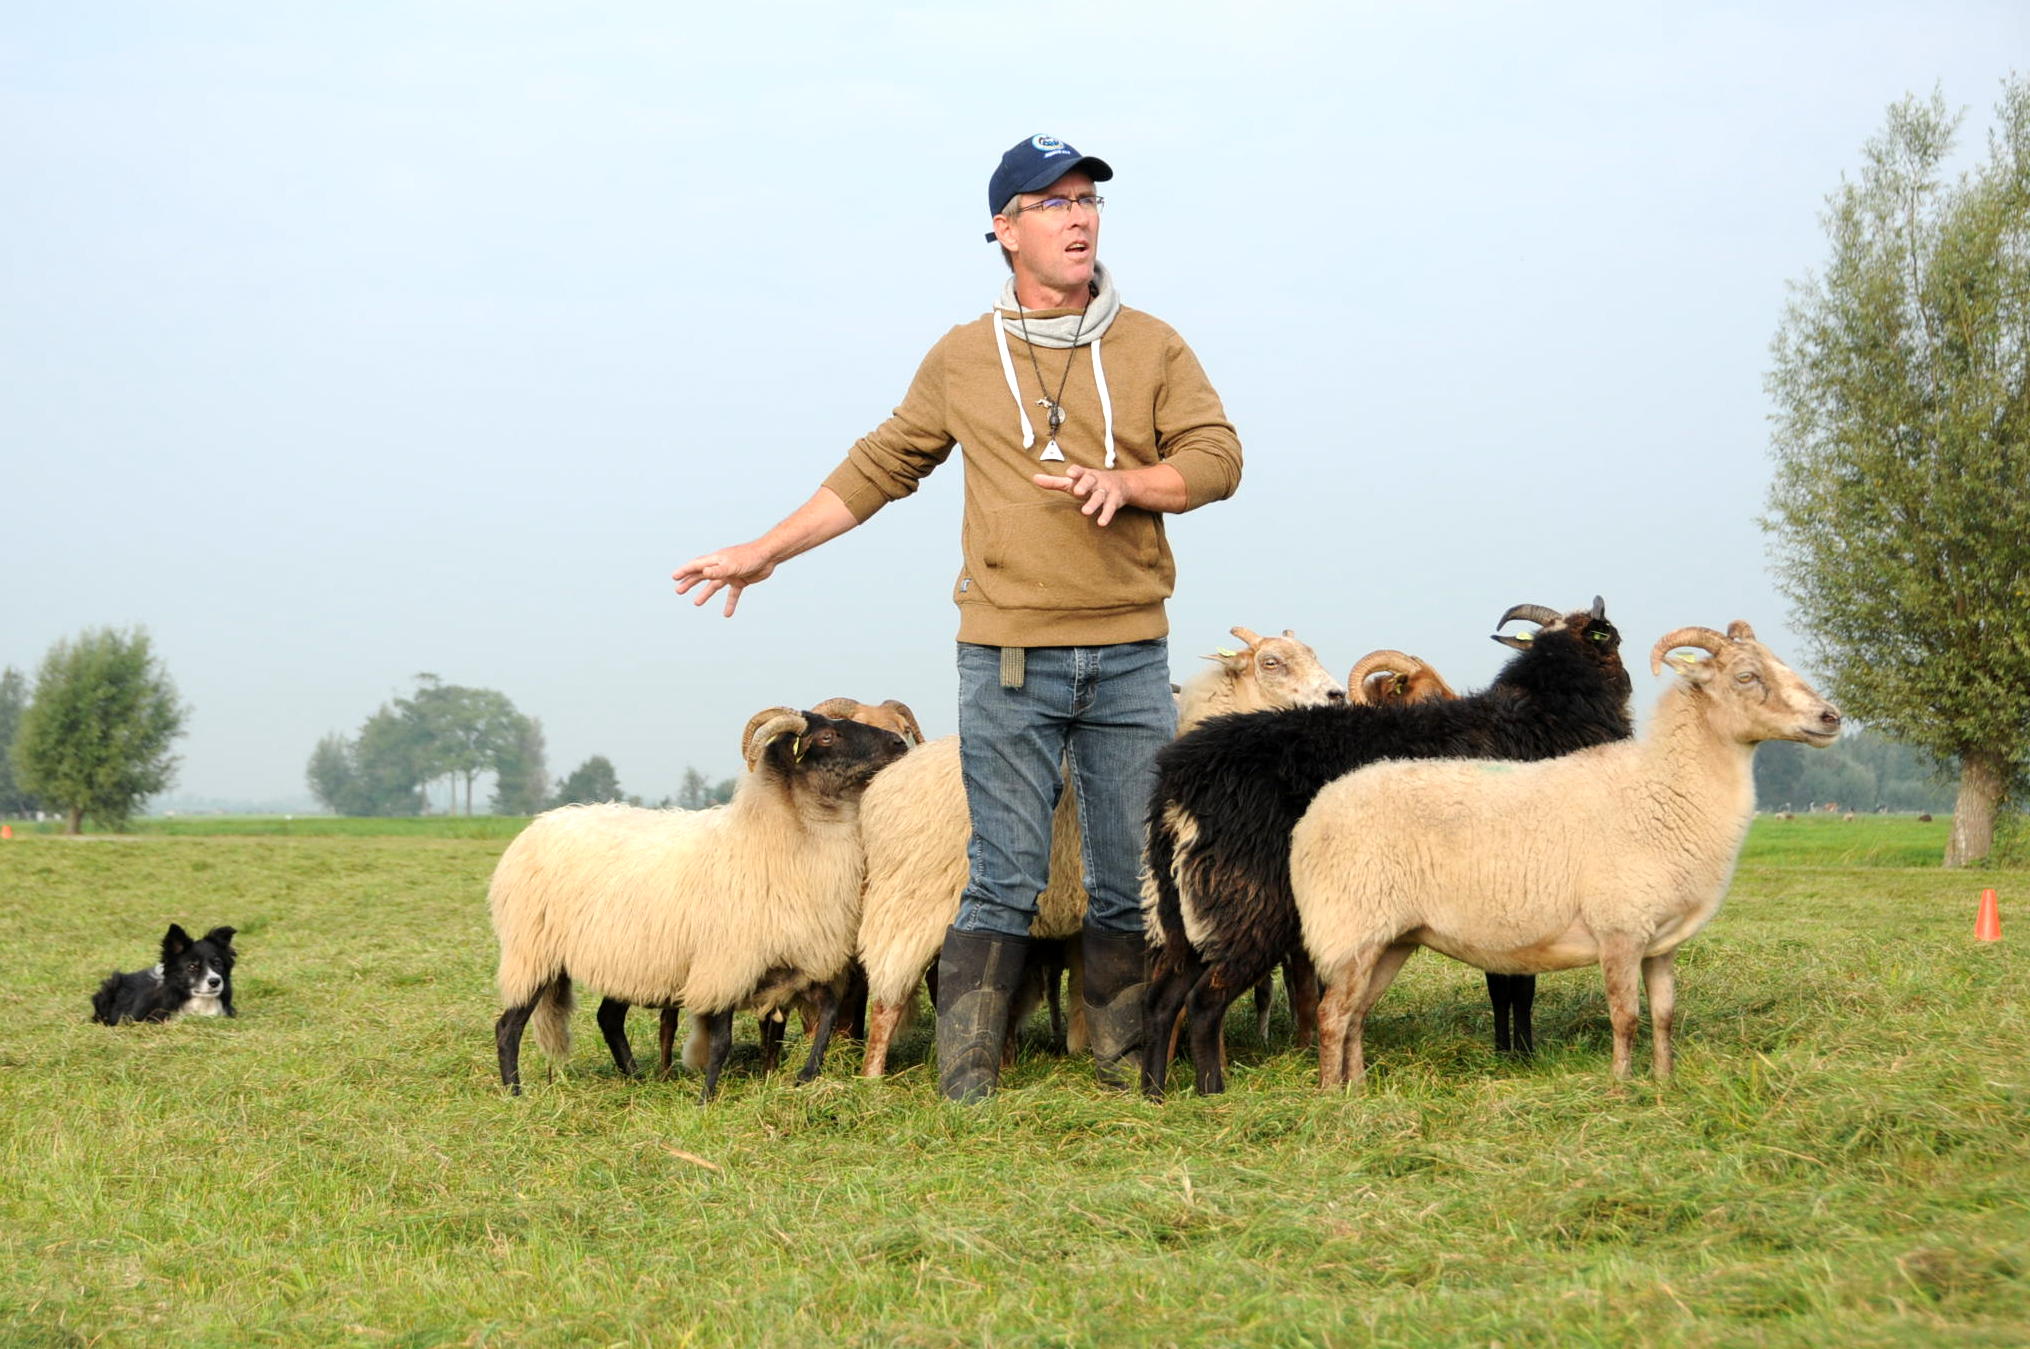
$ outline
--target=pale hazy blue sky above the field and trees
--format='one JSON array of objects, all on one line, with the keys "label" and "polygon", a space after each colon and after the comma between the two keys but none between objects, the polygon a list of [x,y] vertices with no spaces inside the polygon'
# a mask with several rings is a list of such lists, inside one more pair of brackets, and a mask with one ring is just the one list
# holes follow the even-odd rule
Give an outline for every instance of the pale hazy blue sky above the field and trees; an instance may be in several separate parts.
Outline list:
[{"label": "pale hazy blue sky above the field and trees", "polygon": [[1756,523],[1786,286],[1890,103],[1971,162],[2026,59],[2020,0],[8,0],[0,667],[146,627],[185,809],[309,807],[418,671],[652,801],[771,704],[948,734],[956,456],[731,621],[670,570],[991,306],[987,176],[1047,132],[1246,452],[1169,519],[1173,678],[1244,625],[1476,688],[1502,611],[1594,594],[1642,708],[1681,625],[1811,673]]}]

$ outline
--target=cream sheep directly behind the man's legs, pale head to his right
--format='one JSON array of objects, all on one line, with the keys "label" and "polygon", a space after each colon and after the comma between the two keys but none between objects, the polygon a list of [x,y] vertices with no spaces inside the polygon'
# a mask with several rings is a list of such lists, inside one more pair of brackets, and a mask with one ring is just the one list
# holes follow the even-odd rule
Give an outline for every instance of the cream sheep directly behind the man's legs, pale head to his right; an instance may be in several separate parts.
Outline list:
[{"label": "cream sheep directly behind the man's legs, pale head to his right", "polygon": [[[1214,667],[1179,694],[1179,726],[1208,716],[1255,708],[1344,702],[1346,690],[1317,663],[1317,653],[1289,629],[1263,637],[1230,629],[1246,643],[1206,659]],[[1037,897],[1033,937],[1078,937],[1086,917],[1074,793],[1066,789],[1052,820],[1050,884]],[[944,933],[966,889],[966,787],[958,767],[958,736],[944,736],[909,751],[867,791],[861,836],[867,842],[867,903],[861,915],[859,957],[867,970],[865,1077],[887,1073],[887,1051],[916,1000],[916,986],[938,957]],[[1076,943],[1074,943],[1076,947]],[[1076,951],[1068,964],[1078,968]],[[1056,984],[1056,980],[1050,980]],[[1011,1018],[1015,1024],[1019,1018]],[[1082,1004],[1074,1000],[1072,1049],[1084,1039]]]}]

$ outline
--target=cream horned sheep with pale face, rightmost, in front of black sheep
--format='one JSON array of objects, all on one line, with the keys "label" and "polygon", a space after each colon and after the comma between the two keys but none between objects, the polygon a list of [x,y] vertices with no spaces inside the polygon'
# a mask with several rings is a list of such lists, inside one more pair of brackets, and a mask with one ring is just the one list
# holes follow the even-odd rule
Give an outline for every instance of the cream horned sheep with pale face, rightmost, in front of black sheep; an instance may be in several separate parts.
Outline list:
[{"label": "cream horned sheep with pale face, rightmost, in front of black sheep", "polygon": [[[1711,659],[1671,655],[1697,647]],[[1319,1085],[1358,1085],[1368,1010],[1419,945],[1480,970],[1598,964],[1614,1075],[1648,986],[1652,1071],[1671,1075],[1677,947],[1719,911],[1754,820],[1754,749],[1839,738],[1839,708],[1736,621],[1650,651],[1677,680],[1640,740],[1545,763],[1384,763],[1324,791],[1291,836],[1303,943],[1326,982]]]}]

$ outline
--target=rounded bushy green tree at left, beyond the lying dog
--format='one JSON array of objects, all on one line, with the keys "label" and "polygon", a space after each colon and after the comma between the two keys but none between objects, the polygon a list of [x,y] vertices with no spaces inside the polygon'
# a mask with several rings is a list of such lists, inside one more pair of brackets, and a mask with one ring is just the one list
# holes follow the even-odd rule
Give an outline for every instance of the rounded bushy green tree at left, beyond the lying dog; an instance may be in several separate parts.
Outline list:
[{"label": "rounded bushy green tree at left, beyond the lying dog", "polygon": [[142,801],[175,781],[168,747],[187,714],[144,629],[89,629],[43,657],[14,736],[14,773],[63,811],[69,834],[83,832],[85,815],[126,828]]}]

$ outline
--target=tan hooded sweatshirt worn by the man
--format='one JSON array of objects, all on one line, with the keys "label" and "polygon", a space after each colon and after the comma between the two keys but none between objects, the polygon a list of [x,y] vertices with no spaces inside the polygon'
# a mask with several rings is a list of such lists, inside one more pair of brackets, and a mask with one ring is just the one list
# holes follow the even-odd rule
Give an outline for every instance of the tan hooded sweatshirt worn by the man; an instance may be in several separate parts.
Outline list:
[{"label": "tan hooded sweatshirt worn by the man", "polygon": [[[1078,310],[1031,310],[1029,321]],[[1013,310],[1009,312],[1013,318]],[[1123,306],[1104,341],[1029,347],[1009,337],[1003,365],[993,314],[964,323],[924,357],[909,392],[887,422],[863,436],[824,479],[865,521],[916,491],[952,446],[966,456],[964,564],[952,586],[958,639],[989,647],[1092,647],[1149,641],[1169,633],[1163,600],[1177,568],[1157,511],[1123,507],[1100,527],[1084,501],[1029,481],[1066,465],[1141,469],[1167,463],[1183,477],[1188,505],[1222,501],[1240,485],[1240,440],[1198,357],[1159,318]],[[1094,349],[1106,406],[1094,379]],[[1066,361],[1070,375],[1066,377]],[[1037,385],[1041,367],[1047,387]],[[1009,392],[1013,373],[1023,406]],[[1064,463],[1043,460],[1052,440],[1045,394],[1064,383]],[[1033,444],[1023,448],[1023,412]],[[1114,460],[1106,456],[1112,420]]]}]

